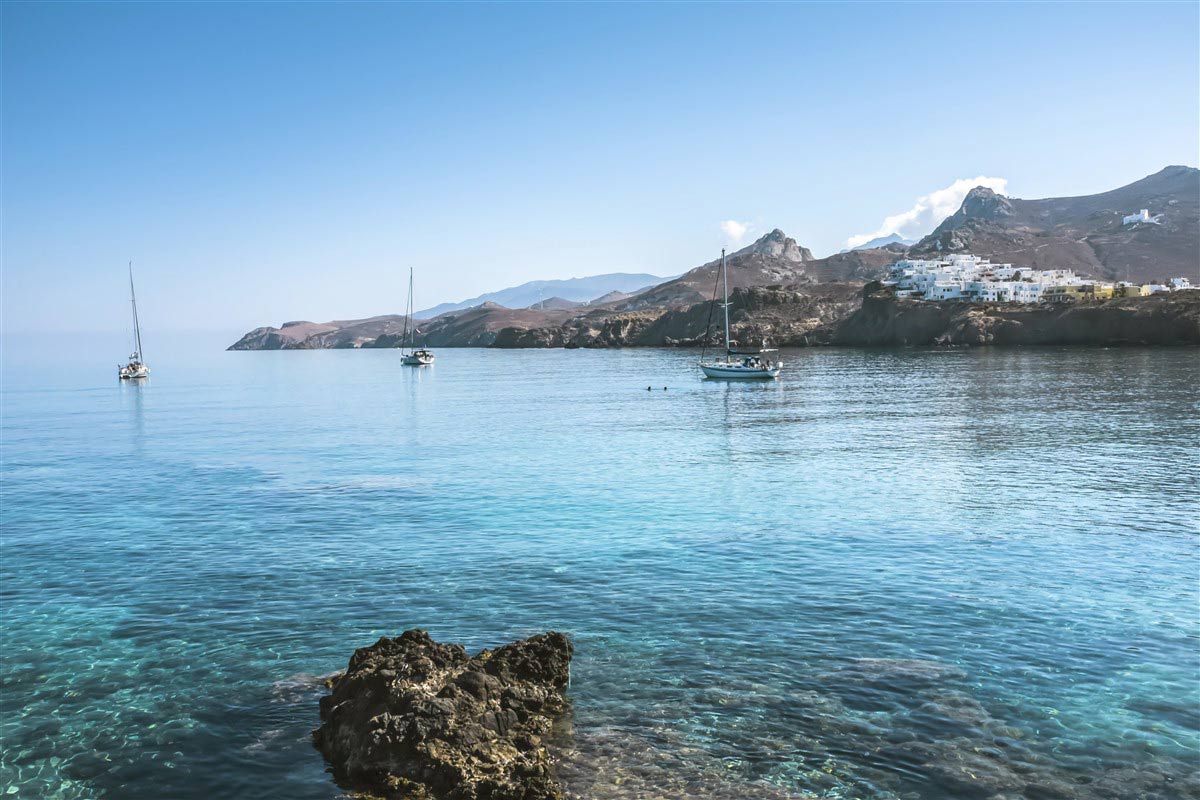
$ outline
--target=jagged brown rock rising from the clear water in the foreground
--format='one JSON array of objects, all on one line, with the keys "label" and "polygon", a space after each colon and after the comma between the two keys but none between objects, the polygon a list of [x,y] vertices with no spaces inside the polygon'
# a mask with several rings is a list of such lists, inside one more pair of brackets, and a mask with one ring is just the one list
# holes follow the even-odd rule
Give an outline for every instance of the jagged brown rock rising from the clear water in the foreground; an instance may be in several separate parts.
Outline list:
[{"label": "jagged brown rock rising from the clear water in the foreground", "polygon": [[554,632],[474,657],[425,631],[382,638],[332,680],[313,744],[340,782],[384,796],[558,800],[545,738],[570,663]]}]

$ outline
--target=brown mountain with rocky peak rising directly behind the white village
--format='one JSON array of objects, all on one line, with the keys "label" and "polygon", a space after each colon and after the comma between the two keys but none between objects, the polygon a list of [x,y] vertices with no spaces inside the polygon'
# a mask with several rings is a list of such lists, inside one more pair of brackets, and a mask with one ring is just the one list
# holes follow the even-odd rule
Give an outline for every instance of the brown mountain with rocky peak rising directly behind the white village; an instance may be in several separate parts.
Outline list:
[{"label": "brown mountain with rocky peak rising directly behind the white village", "polygon": [[[1123,224],[1141,209],[1159,215],[1158,223]],[[978,186],[908,251],[916,257],[955,252],[1108,279],[1198,279],[1200,170],[1166,167],[1109,192],[1042,200]]]}]

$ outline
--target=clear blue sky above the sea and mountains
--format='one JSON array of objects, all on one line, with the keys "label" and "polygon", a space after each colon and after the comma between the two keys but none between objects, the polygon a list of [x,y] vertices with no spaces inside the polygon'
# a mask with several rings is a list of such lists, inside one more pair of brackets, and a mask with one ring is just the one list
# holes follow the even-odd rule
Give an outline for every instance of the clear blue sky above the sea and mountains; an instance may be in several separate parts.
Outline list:
[{"label": "clear blue sky above the sea and mountains", "polygon": [[0,4],[5,332],[244,331],[1200,151],[1200,4]]}]

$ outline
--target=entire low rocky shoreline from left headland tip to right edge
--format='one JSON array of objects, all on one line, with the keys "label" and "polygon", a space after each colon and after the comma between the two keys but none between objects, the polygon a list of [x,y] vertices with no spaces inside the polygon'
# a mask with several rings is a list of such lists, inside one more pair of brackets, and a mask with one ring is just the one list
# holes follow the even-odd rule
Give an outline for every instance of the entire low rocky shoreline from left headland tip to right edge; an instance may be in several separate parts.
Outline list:
[{"label": "entire low rocky shoreline from left headland tip to right edge", "polygon": [[[773,347],[922,347],[1200,344],[1200,290],[1069,305],[931,302],[895,297],[877,282],[750,287],[730,296],[737,344]],[[430,320],[431,348],[698,347],[713,305],[570,312],[474,308]],[[382,318],[380,318],[382,319]],[[516,323],[516,324],[502,324]],[[257,329],[230,350],[395,348],[394,324],[347,337],[334,324]],[[714,336],[718,325],[712,326]],[[300,329],[307,336],[288,332]],[[312,330],[313,332],[308,333]]]}]

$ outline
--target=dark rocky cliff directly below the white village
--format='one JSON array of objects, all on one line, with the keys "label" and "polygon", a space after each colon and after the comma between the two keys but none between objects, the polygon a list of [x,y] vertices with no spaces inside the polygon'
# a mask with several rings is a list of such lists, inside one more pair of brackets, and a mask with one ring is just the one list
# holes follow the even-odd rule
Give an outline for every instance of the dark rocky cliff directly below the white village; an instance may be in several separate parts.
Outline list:
[{"label": "dark rocky cliff directly below the white village", "polygon": [[814,338],[850,347],[1200,344],[1200,290],[1052,306],[926,302],[872,283],[862,307]]}]

